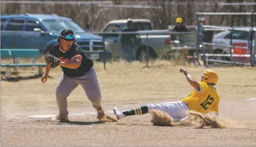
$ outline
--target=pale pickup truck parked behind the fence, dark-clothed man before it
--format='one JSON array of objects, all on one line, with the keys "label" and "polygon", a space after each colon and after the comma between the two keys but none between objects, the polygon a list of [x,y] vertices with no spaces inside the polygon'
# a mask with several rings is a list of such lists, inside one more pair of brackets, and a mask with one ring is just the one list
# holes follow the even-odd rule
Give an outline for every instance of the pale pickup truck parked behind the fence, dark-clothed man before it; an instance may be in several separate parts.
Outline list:
[{"label": "pale pickup truck parked behind the fence, dark-clothed man before it", "polygon": [[[111,20],[101,30],[101,32],[120,32],[126,27],[127,19]],[[135,60],[144,60],[146,57],[146,35],[144,32],[162,31],[167,30],[152,30],[152,24],[149,19],[132,19],[133,26],[139,34],[138,39],[134,39],[134,58]],[[102,35],[102,34],[101,34]],[[111,51],[112,57],[121,56],[121,34],[105,34],[106,49]],[[157,56],[168,54],[169,46],[171,45],[170,35],[150,34],[149,39],[149,58],[157,58]]]}]

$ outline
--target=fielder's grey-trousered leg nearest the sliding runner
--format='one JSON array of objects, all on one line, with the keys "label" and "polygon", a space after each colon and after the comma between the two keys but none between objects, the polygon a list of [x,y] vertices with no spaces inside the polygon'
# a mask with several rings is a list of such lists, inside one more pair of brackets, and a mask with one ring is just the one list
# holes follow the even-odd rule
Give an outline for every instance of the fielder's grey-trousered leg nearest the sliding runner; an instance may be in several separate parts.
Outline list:
[{"label": "fielder's grey-trousered leg nearest the sliding runner", "polygon": [[101,107],[100,85],[94,68],[92,67],[84,76],[77,77],[76,79],[78,79],[80,85],[84,88],[86,96],[98,113],[98,117],[103,117],[105,112]]}]

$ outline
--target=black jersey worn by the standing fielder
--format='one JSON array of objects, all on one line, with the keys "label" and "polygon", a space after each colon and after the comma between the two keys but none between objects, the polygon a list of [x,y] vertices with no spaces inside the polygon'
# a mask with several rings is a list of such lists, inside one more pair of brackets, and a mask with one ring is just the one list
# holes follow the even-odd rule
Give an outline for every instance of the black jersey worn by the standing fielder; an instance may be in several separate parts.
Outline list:
[{"label": "black jersey worn by the standing fielder", "polygon": [[74,57],[81,57],[81,65],[77,69],[69,69],[61,66],[65,75],[69,77],[83,76],[93,67],[93,61],[76,43],[74,43],[68,51],[60,49],[60,43],[56,43],[53,45],[52,50],[50,50],[50,54],[58,57],[60,61],[71,61]]}]

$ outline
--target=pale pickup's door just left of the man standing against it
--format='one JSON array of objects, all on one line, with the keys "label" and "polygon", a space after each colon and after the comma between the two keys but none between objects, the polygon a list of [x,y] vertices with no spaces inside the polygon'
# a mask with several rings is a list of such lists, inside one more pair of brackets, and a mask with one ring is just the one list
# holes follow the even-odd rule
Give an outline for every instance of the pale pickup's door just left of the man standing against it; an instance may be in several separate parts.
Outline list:
[{"label": "pale pickup's door just left of the man standing against it", "polygon": [[[103,30],[103,32],[119,32],[119,24],[110,24]],[[111,56],[120,56],[121,55],[121,40],[120,34],[105,34],[106,49],[111,50]]]}]

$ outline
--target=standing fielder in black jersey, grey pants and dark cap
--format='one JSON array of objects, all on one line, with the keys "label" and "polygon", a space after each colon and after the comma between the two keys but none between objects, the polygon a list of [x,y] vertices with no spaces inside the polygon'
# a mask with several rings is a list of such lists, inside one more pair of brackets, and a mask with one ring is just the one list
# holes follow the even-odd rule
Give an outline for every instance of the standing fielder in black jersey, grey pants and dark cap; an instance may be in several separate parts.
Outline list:
[{"label": "standing fielder in black jersey, grey pants and dark cap", "polygon": [[[63,73],[59,78],[57,90],[55,93],[59,114],[55,117],[60,121],[69,121],[68,119],[68,104],[66,98],[70,93],[81,85],[86,93],[86,96],[93,104],[93,107],[98,113],[97,118],[102,121],[110,121],[111,118],[105,115],[104,109],[101,107],[101,92],[97,79],[96,71],[93,67],[93,61],[81,50],[76,44],[74,33],[70,29],[65,29],[58,37],[58,43],[54,44],[50,55],[58,61],[57,66],[62,67]],[[47,66],[41,81],[47,81],[49,71],[52,66],[50,59],[45,56]],[[55,62],[56,63],[56,62]]]}]

